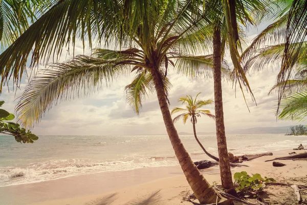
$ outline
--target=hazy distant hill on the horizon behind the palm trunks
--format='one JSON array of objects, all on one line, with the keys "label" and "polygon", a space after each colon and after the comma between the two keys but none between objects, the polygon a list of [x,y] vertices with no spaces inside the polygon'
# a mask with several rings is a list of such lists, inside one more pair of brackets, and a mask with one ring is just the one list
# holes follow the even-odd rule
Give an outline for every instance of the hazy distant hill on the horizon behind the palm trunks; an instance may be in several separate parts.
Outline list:
[{"label": "hazy distant hill on the horizon behind the palm trunks", "polygon": [[[226,131],[226,134],[286,134],[288,129],[292,126],[285,127],[257,127],[239,130]],[[180,132],[179,135],[192,135],[193,133]],[[211,135],[215,132],[198,132],[199,135]]]}]

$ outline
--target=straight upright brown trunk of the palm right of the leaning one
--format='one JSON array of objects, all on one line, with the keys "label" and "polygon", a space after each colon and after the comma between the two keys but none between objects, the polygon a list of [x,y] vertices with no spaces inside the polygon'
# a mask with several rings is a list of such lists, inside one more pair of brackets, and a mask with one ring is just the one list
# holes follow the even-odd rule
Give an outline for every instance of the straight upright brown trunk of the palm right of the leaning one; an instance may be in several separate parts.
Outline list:
[{"label": "straight upright brown trunk of the palm right of the leaning one", "polygon": [[229,157],[227,151],[224,125],[221,61],[221,30],[218,26],[216,26],[214,27],[213,33],[213,79],[217,150],[218,158],[220,159],[219,162],[222,187],[224,189],[231,189],[233,188],[233,183],[229,166]]}]

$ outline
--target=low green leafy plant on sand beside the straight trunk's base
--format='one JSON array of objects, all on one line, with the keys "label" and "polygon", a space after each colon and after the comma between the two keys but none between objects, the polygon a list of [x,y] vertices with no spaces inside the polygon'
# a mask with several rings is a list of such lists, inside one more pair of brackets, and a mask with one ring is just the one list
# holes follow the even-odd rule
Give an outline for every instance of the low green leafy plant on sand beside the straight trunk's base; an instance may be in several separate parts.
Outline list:
[{"label": "low green leafy plant on sand beside the straight trunk's base", "polygon": [[237,191],[262,191],[262,188],[271,181],[273,178],[262,178],[260,174],[248,175],[247,172],[236,172],[233,175]]}]

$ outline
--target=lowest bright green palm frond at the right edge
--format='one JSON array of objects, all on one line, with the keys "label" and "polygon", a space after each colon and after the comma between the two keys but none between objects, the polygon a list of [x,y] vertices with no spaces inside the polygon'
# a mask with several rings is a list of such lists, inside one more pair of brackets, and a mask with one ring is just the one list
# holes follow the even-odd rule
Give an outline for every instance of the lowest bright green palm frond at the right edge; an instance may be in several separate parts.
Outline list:
[{"label": "lowest bright green palm frond at the right edge", "polygon": [[303,120],[307,116],[307,93],[295,93],[280,101],[279,119]]}]

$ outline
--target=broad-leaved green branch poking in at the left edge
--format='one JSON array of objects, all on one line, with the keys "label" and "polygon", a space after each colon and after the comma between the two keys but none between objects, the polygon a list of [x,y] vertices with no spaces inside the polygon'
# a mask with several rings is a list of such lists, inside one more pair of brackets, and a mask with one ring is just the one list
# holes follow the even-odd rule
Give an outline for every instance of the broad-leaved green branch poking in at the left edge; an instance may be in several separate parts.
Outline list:
[{"label": "broad-leaved green branch poking in at the left edge", "polygon": [[[4,101],[0,101],[0,107]],[[13,135],[17,142],[33,143],[38,137],[27,131],[25,128],[20,128],[19,124],[11,122],[15,116],[6,110],[0,109],[0,133]]]}]

